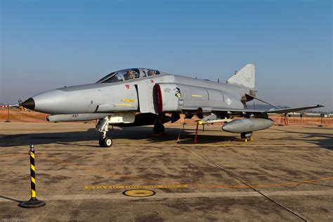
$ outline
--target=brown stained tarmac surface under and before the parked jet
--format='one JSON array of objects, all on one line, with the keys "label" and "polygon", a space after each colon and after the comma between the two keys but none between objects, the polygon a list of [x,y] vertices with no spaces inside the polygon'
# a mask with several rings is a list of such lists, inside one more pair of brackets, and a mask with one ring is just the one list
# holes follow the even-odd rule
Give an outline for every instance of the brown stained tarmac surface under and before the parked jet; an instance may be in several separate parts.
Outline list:
[{"label": "brown stained tarmac surface under and before the parked jet", "polygon": [[[0,123],[1,221],[333,221],[332,128],[273,126],[244,143],[200,126],[195,145],[194,125],[176,143],[179,127],[115,128],[100,148],[94,124]],[[23,209],[31,143],[46,206]]]}]

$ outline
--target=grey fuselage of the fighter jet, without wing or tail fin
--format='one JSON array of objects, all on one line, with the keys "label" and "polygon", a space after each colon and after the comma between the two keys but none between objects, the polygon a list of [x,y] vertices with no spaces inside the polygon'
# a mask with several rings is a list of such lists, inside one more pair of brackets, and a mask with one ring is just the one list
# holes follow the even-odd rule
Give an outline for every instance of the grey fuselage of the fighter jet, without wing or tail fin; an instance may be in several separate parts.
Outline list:
[{"label": "grey fuselage of the fighter jet, without wing or tail fin", "polygon": [[145,72],[148,69],[135,70],[136,77],[131,79],[123,76],[122,79],[117,77],[121,81],[115,81],[113,77],[112,81],[107,82],[106,76],[94,84],[39,93],[30,98],[30,102],[34,103],[34,107],[30,108],[52,115],[113,112],[158,114],[181,112],[183,107],[244,108],[242,100],[245,93],[250,93],[242,86],[158,71],[159,74],[148,76]]}]

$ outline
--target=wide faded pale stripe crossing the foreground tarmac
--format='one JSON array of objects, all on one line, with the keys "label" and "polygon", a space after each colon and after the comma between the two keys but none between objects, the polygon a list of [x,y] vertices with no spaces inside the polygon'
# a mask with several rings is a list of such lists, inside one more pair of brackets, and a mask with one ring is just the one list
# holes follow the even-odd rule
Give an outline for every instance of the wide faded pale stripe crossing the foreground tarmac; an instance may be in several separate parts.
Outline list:
[{"label": "wide faded pale stripe crossing the foreground tarmac", "polygon": [[[263,192],[265,195],[277,197],[292,197],[292,196],[333,196],[333,190],[287,190],[287,191],[273,191]],[[200,198],[200,197],[261,197],[258,192],[157,192],[156,195],[150,197],[141,197],[141,199],[163,199],[163,198]],[[14,198],[14,197],[13,197]],[[112,192],[108,194],[77,194],[77,195],[39,195],[40,200],[57,201],[57,200],[129,200],[130,198],[122,195],[122,192]],[[22,197],[15,197],[15,199],[22,199]],[[13,202],[0,198],[0,202]]]}]

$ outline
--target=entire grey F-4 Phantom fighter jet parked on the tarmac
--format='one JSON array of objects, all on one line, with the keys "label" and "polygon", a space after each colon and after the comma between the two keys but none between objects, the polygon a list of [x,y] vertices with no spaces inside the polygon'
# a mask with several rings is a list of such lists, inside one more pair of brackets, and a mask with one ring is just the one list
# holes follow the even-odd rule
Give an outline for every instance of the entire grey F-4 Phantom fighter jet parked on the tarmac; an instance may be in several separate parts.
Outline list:
[{"label": "entire grey F-4 Phantom fighter jet parked on the tarmac", "polygon": [[110,124],[154,125],[155,133],[163,133],[163,124],[176,122],[180,114],[185,118],[196,115],[200,119],[198,124],[224,122],[223,131],[240,133],[241,138],[249,139],[253,131],[272,126],[269,113],[287,114],[323,107],[249,110],[246,103],[256,98],[254,82],[255,67],[252,64],[233,74],[226,84],[159,70],[132,68],[107,74],[94,84],[45,91],[20,105],[51,114],[48,121],[99,119],[96,130],[102,134],[99,140],[101,147],[112,145],[112,139],[107,136]]}]

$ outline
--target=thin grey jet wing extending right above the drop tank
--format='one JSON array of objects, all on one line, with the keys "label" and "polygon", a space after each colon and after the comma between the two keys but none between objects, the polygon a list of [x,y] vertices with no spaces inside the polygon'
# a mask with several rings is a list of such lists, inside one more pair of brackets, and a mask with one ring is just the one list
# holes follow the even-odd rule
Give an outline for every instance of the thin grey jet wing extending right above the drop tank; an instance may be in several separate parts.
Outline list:
[{"label": "thin grey jet wing extending right above the drop tank", "polygon": [[288,113],[288,112],[297,112],[301,110],[311,110],[319,107],[324,107],[324,105],[311,105],[305,107],[295,107],[295,108],[286,108],[286,109],[275,109],[275,110],[249,110],[249,109],[233,109],[228,107],[183,107],[183,112],[226,112],[230,115],[244,115],[244,114],[264,114],[264,113]]}]

